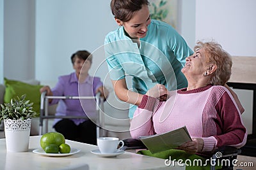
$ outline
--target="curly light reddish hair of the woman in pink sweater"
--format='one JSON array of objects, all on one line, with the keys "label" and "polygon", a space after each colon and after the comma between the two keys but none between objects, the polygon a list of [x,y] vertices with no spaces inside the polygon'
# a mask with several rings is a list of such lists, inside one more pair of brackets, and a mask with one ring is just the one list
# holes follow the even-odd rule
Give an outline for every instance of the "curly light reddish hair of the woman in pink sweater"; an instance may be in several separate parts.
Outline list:
[{"label": "curly light reddish hair of the woman in pink sweater", "polygon": [[231,75],[232,59],[222,46],[214,41],[198,41],[194,50],[204,49],[207,64],[216,64],[217,69],[212,74],[212,85],[225,85]]}]

